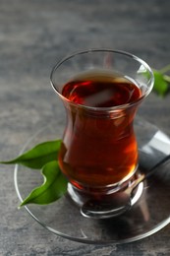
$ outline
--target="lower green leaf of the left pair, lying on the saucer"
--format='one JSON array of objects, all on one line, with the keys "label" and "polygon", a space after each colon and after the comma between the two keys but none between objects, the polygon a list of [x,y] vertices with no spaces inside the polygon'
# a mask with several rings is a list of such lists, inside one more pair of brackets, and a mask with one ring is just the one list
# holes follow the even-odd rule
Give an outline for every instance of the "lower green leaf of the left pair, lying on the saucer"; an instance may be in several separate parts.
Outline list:
[{"label": "lower green leaf of the left pair, lying on the saucer", "polygon": [[27,204],[50,204],[66,193],[68,181],[60,171],[57,160],[46,163],[42,168],[42,175],[44,183],[33,189],[21,206]]}]

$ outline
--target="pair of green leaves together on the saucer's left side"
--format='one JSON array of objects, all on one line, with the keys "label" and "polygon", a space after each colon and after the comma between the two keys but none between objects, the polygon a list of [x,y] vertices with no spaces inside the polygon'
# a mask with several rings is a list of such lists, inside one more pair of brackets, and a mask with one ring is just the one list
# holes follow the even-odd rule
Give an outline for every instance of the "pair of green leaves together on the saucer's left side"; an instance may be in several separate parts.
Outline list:
[{"label": "pair of green leaves together on the saucer's left side", "polygon": [[18,163],[32,169],[39,169],[43,176],[43,184],[34,188],[21,206],[50,204],[66,193],[68,181],[58,164],[60,146],[61,140],[43,142],[14,160],[0,161],[4,164]]}]

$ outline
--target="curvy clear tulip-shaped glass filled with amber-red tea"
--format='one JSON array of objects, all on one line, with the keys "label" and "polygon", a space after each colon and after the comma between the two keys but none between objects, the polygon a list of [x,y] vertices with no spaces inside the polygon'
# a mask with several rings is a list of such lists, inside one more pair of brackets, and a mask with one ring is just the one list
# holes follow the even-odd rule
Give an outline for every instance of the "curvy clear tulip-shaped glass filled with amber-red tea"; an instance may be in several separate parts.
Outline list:
[{"label": "curvy clear tulip-shaped glass filled with amber-red tea", "polygon": [[63,59],[50,79],[67,115],[58,161],[68,193],[80,208],[95,202],[92,211],[102,218],[100,204],[107,202],[111,211],[116,193],[135,178],[139,154],[133,122],[152,90],[152,71],[130,53],[92,49]]}]

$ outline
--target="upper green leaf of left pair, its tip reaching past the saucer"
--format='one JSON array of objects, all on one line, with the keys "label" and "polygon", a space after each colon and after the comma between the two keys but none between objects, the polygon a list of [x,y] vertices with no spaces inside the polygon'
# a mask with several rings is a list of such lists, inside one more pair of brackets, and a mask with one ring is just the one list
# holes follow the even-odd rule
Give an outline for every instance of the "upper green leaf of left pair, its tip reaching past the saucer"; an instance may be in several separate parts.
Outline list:
[{"label": "upper green leaf of left pair, its tip reaching past the saucer", "polygon": [[48,161],[57,160],[60,146],[61,140],[43,142],[19,156],[17,159],[0,161],[0,163],[20,163],[28,166],[29,168],[40,169]]}]

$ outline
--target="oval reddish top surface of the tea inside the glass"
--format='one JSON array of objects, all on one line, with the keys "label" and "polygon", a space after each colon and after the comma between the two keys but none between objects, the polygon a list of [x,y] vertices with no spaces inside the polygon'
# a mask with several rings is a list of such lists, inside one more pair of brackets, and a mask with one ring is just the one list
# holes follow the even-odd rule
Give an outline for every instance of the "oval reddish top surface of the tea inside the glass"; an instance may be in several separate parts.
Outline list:
[{"label": "oval reddish top surface of the tea inside the glass", "polygon": [[93,107],[127,104],[141,96],[139,87],[124,77],[94,73],[67,83],[62,95],[70,101]]}]

